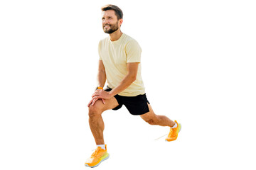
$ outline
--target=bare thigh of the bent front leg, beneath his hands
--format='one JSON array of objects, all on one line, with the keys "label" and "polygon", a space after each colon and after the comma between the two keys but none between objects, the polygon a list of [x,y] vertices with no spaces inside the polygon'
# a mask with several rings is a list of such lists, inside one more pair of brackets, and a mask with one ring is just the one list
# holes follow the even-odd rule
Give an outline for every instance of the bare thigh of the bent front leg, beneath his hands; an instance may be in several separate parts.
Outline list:
[{"label": "bare thigh of the bent front leg, beneath his hands", "polygon": [[89,110],[104,112],[117,106],[119,106],[119,104],[117,102],[117,99],[115,99],[114,97],[110,99],[105,99],[105,104],[102,102],[102,99],[99,98],[93,106],[92,104],[89,106]]}]

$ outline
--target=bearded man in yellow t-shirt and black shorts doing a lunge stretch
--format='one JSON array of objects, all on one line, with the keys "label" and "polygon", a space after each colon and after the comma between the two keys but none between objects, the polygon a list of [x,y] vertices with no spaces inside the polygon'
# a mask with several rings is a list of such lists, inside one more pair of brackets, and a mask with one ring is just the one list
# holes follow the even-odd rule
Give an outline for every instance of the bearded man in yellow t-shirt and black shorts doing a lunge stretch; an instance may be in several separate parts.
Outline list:
[{"label": "bearded man in yellow t-shirt and black shorts doing a lunge stretch", "polygon": [[[132,115],[140,115],[150,125],[171,128],[166,141],[176,140],[181,124],[164,115],[156,115],[146,98],[141,77],[141,52],[138,42],[122,33],[122,10],[114,5],[102,7],[102,28],[110,36],[99,43],[98,86],[89,107],[89,123],[97,149],[87,159],[85,166],[95,167],[108,159],[107,145],[103,139],[102,113],[126,106]],[[103,89],[107,79],[107,89]]]}]

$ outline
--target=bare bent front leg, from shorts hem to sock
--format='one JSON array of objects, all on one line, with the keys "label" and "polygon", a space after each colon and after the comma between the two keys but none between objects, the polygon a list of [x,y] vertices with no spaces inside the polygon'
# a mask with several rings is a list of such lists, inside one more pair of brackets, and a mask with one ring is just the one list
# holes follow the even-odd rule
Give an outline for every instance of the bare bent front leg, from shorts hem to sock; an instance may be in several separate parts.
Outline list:
[{"label": "bare bent front leg, from shorts hem to sock", "polygon": [[105,100],[105,104],[103,104],[101,100],[98,100],[94,106],[89,106],[89,124],[96,145],[105,144],[103,137],[105,125],[102,119],[102,113],[115,108],[116,106],[118,106],[118,103],[115,98]]}]

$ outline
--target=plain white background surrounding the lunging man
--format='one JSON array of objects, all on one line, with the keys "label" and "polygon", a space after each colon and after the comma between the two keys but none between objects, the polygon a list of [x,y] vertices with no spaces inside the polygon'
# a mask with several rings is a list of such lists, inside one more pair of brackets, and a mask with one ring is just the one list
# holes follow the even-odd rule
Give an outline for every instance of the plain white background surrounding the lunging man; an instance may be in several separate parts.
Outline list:
[{"label": "plain white background surrounding the lunging man", "polygon": [[0,169],[88,169],[87,103],[96,84],[100,7],[124,12],[142,46],[151,126],[107,111],[110,159],[97,169],[255,169],[254,1],[1,1]]}]

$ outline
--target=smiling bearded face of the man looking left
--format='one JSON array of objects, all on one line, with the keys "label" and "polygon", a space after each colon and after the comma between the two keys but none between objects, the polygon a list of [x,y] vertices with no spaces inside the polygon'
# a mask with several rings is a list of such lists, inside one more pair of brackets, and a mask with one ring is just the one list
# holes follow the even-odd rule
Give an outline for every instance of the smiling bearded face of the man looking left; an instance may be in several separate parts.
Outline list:
[{"label": "smiling bearded face of the man looking left", "polygon": [[122,19],[117,20],[114,10],[102,12],[102,28],[105,33],[111,34],[121,26]]}]

